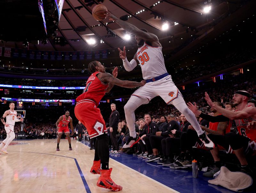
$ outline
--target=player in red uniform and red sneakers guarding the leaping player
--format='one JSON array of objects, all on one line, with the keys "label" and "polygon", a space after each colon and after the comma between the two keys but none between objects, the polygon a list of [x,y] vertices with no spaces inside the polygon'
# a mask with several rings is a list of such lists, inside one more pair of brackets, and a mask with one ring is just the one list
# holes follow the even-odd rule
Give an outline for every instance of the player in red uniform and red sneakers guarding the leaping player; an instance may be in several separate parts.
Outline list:
[{"label": "player in red uniform and red sneakers guarding the leaping player", "polygon": [[125,88],[135,88],[145,85],[145,80],[133,82],[117,79],[117,67],[112,72],[113,76],[106,73],[104,66],[93,61],[89,63],[88,70],[92,75],[88,78],[83,93],[76,98],[75,115],[86,127],[90,138],[97,137],[95,142],[94,161],[91,168],[92,174],[100,174],[97,186],[113,191],[122,190],[123,187],[117,185],[110,178],[112,168],[108,168],[109,150],[108,133],[105,121],[97,108],[100,100],[108,93],[114,85]]}]

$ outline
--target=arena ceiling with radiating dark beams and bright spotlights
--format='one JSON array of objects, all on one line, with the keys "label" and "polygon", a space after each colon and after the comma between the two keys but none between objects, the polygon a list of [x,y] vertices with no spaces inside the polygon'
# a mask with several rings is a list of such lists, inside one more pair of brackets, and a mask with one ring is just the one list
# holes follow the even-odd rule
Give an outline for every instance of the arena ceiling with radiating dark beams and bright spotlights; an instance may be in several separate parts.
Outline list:
[{"label": "arena ceiling with radiating dark beams and bright spotlights", "polygon": [[[15,2],[19,0],[13,1]],[[96,4],[104,4],[118,18],[129,16],[129,23],[156,34],[166,52],[180,48],[186,42],[197,40],[198,43],[198,39],[201,43],[210,41],[218,33],[235,25],[234,22],[246,18],[256,7],[252,0],[65,0],[56,36],[63,38],[65,45],[55,44],[53,39],[47,44],[31,42],[28,49],[91,51],[114,50],[123,46],[136,49],[133,36],[129,41],[125,40],[126,32],[115,22],[93,19],[91,12]],[[211,6],[207,14],[204,13],[205,6]],[[8,10],[4,10],[2,14],[12,17]],[[169,25],[165,31],[162,30],[164,23]],[[214,33],[210,35],[214,27]],[[5,28],[1,33],[11,32]],[[17,29],[15,33],[19,36],[22,30]],[[206,34],[208,35],[205,36]],[[90,39],[95,39],[96,43],[90,44]],[[22,41],[3,40],[0,46],[24,48]]]}]

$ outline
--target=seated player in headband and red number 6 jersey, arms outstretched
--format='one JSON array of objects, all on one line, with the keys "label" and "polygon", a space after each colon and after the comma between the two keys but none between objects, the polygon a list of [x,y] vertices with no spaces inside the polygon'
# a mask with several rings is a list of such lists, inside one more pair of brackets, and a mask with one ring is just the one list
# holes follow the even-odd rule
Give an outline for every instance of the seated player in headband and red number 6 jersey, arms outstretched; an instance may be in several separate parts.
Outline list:
[{"label": "seated player in headband and red number 6 jersey, arms outstretched", "polygon": [[[209,95],[205,93],[205,100],[212,108],[216,109],[223,116],[228,117],[231,120],[235,120],[236,127],[240,135],[228,133],[222,141],[227,142],[230,145],[241,163],[241,171],[246,173],[252,172],[245,158],[245,153],[248,153],[249,149],[256,151],[256,129],[251,129],[250,127],[247,128],[249,122],[256,120],[256,108],[247,104],[249,97],[250,95],[247,91],[236,91],[233,100],[237,109],[229,111],[215,105]],[[216,138],[215,135],[213,135],[213,137]],[[215,142],[214,138],[210,138]],[[218,138],[220,137],[217,137],[216,140],[219,140]],[[218,151],[219,150],[217,148],[211,150],[214,161],[218,161],[220,159]]]}]

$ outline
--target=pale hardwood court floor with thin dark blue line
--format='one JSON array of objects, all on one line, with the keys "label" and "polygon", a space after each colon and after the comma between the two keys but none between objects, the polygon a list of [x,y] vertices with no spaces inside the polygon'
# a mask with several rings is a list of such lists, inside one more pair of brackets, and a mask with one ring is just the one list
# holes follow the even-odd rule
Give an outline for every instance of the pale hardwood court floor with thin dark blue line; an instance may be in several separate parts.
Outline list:
[{"label": "pale hardwood court floor with thin dark blue line", "polygon": [[[0,155],[0,193],[80,193],[109,192],[96,186],[99,175],[91,174],[94,150],[71,140],[61,139],[56,152],[56,139],[13,141]],[[111,178],[123,186],[121,192],[177,192],[113,159]]]}]

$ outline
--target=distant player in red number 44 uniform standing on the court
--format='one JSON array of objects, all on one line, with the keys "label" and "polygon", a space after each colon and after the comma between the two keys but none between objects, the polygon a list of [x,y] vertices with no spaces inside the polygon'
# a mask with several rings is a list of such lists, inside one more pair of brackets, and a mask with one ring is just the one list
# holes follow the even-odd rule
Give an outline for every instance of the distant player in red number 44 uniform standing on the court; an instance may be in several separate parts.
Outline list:
[{"label": "distant player in red number 44 uniform standing on the court", "polygon": [[62,131],[68,137],[69,150],[72,150],[71,140],[70,140],[70,133],[69,133],[69,129],[68,129],[68,124],[69,123],[70,123],[70,128],[72,130],[71,136],[73,136],[74,135],[73,120],[69,116],[69,111],[66,111],[65,115],[60,116],[60,118],[56,122],[57,130],[58,130],[58,138],[57,138],[57,148],[56,148],[56,151],[60,151],[59,144],[60,144],[60,138],[61,138],[61,135],[62,135]]}]

